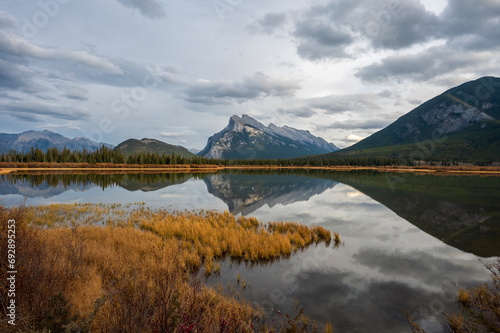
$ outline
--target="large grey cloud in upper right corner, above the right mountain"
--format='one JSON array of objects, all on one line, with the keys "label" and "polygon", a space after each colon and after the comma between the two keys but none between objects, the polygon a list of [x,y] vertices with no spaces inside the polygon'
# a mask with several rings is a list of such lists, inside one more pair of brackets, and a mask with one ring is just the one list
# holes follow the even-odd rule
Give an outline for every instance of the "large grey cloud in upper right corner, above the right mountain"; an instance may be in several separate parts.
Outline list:
[{"label": "large grey cloud in upper right corner, above the right mountain", "polygon": [[[426,32],[430,39],[444,39],[445,44],[419,54],[397,54],[360,69],[356,76],[364,82],[390,80],[427,81],[458,71],[480,73],[498,71],[490,62],[492,52],[500,47],[500,3],[498,1],[450,0]],[[415,21],[416,22],[416,21]],[[391,22],[392,23],[392,22]]]}]

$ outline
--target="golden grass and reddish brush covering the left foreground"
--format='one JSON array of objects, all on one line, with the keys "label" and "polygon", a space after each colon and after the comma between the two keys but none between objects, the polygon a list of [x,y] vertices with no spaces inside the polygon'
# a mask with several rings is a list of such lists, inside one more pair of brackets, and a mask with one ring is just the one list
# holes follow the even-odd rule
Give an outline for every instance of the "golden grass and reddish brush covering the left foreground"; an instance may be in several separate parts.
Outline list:
[{"label": "golden grass and reddish brush covering the left foreground", "polygon": [[[301,312],[279,327],[262,313],[208,288],[217,260],[273,260],[329,231],[296,223],[263,225],[213,211],[168,212],[116,205],[0,206],[1,248],[16,220],[16,330],[50,332],[307,332]],[[5,251],[4,251],[5,253]],[[7,260],[1,261],[1,306],[7,306]],[[259,324],[260,323],[260,324]],[[0,322],[2,331],[12,329]],[[327,324],[325,329],[331,331]]]}]

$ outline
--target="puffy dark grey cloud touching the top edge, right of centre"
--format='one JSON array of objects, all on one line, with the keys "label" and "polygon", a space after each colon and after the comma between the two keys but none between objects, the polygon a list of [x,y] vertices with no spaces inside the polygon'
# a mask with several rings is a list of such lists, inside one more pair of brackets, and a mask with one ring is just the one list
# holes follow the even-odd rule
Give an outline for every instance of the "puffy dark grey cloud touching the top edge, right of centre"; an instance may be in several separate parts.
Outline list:
[{"label": "puffy dark grey cloud touching the top edge, right of centre", "polygon": [[347,48],[360,38],[375,49],[399,50],[431,40],[438,26],[420,1],[333,0],[312,7],[293,35],[301,57],[319,60],[356,56]]}]

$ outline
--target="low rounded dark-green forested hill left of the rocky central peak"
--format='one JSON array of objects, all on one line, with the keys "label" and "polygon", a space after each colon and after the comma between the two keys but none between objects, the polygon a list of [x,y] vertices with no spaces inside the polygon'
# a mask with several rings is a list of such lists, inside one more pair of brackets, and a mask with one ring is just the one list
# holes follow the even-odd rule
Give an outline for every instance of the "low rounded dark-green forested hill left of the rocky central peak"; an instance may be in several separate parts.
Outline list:
[{"label": "low rounded dark-green forested hill left of the rocky central peak", "polygon": [[160,155],[161,154],[171,155],[172,153],[174,153],[175,155],[182,157],[196,156],[195,154],[191,153],[184,147],[174,146],[165,143],[163,141],[155,139],[147,139],[147,138],[142,140],[128,139],[120,143],[118,146],[116,146],[115,149],[120,150],[121,152],[127,155],[144,152],[144,153],[158,153]]}]

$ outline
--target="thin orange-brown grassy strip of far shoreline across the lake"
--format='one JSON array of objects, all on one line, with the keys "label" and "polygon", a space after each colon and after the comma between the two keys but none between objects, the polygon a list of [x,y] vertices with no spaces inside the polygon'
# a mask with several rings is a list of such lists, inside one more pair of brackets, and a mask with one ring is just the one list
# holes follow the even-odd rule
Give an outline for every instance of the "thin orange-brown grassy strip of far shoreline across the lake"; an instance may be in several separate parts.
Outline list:
[{"label": "thin orange-brown grassy strip of far shoreline across the lake", "polygon": [[1,167],[0,175],[10,173],[31,173],[31,172],[106,172],[106,173],[124,173],[124,172],[141,172],[141,173],[191,173],[191,172],[218,172],[222,170],[324,170],[324,171],[358,171],[358,170],[373,170],[379,172],[394,172],[394,173],[422,173],[432,175],[490,175],[500,176],[500,167],[477,167],[477,166],[207,166],[207,167],[191,167],[189,165],[179,165],[176,167]]}]

